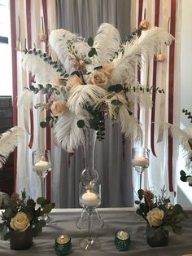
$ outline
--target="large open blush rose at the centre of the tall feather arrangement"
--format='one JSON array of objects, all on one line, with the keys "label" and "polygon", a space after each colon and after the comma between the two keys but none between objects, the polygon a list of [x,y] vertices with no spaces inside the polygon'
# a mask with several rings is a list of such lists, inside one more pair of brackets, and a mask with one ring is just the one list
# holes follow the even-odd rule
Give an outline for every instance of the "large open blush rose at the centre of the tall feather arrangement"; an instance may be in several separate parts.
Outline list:
[{"label": "large open blush rose at the centre of the tall feather arrangement", "polygon": [[107,87],[109,73],[105,72],[103,69],[97,70],[89,75],[87,80],[88,84],[100,86],[103,89]]}]

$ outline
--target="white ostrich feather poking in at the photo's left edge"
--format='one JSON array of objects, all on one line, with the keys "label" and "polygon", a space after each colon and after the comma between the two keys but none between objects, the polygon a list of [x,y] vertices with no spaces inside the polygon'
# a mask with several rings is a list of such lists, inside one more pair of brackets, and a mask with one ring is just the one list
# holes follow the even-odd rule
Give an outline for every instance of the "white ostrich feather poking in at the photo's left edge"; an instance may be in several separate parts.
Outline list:
[{"label": "white ostrich feather poking in at the photo's left edge", "polygon": [[24,133],[22,128],[15,126],[0,135],[0,169],[17,146],[18,140],[24,136]]}]

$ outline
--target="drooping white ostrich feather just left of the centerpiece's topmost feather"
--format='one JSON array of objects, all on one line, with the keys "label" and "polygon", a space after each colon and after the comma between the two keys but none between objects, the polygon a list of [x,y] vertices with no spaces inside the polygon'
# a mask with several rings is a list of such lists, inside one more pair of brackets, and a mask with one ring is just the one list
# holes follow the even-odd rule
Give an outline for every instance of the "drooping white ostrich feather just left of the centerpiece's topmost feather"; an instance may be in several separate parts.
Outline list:
[{"label": "drooping white ostrich feather just left of the centerpiece's topmost feather", "polygon": [[72,67],[71,60],[68,58],[70,52],[68,51],[67,42],[73,41],[73,45],[76,47],[78,54],[87,55],[90,47],[84,40],[85,39],[81,38],[81,36],[65,29],[55,29],[50,33],[50,46],[58,55],[59,60],[68,74],[72,73],[75,69]]}]

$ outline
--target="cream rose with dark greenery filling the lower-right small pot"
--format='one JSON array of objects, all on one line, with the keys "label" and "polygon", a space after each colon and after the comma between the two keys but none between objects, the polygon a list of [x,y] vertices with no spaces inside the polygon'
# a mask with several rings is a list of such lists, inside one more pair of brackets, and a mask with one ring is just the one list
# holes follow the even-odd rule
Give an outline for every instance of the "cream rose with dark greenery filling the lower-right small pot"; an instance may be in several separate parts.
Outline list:
[{"label": "cream rose with dark greenery filling the lower-right small pot", "polygon": [[139,201],[135,201],[138,205],[137,214],[146,220],[146,236],[153,236],[155,232],[163,230],[181,234],[182,227],[178,225],[187,215],[183,211],[181,205],[172,205],[170,198],[166,198],[165,188],[161,190],[160,196],[155,196],[150,190],[138,190]]}]

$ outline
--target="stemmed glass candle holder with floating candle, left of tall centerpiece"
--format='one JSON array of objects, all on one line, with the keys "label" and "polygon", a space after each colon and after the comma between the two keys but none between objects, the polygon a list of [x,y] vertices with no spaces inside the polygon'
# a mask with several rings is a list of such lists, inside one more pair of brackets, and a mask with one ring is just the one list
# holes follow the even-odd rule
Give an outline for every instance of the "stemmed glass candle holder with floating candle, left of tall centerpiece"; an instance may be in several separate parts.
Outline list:
[{"label": "stemmed glass candle holder with floating candle, left of tall centerpiece", "polygon": [[[46,198],[46,175],[51,171],[50,150],[33,151],[33,171],[41,179],[41,196]],[[51,222],[49,215],[44,214],[42,217],[46,223]]]}]

